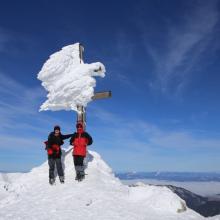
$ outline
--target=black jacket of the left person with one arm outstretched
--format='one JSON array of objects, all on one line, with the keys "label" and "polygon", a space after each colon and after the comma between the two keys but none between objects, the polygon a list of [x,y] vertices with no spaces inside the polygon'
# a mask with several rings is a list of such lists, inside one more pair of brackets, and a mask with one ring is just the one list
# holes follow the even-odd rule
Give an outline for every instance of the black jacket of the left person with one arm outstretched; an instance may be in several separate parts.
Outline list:
[{"label": "black jacket of the left person with one arm outstretched", "polygon": [[[65,139],[70,138],[73,134],[67,134],[67,135],[63,135],[60,133],[60,135],[55,136],[54,132],[51,132],[48,136],[48,143],[47,143],[47,149],[51,148],[52,149],[52,145],[53,144],[57,144],[59,146],[64,144]],[[61,157],[61,148],[59,151],[59,154],[57,155],[56,152],[54,152],[54,154],[52,155],[48,155],[49,158],[60,158]]]}]

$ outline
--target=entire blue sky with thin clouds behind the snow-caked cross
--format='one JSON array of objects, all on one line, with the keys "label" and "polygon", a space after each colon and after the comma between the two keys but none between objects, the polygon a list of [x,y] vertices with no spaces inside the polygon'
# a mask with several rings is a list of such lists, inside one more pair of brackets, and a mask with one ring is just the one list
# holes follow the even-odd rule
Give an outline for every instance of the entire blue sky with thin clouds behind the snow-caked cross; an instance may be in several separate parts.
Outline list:
[{"label": "entire blue sky with thin clouds behind the snow-caked cross", "polygon": [[38,112],[36,77],[81,42],[113,93],[88,105],[91,150],[114,171],[220,171],[219,15],[217,0],[1,2],[0,170],[44,162],[55,124],[74,131],[75,112]]}]

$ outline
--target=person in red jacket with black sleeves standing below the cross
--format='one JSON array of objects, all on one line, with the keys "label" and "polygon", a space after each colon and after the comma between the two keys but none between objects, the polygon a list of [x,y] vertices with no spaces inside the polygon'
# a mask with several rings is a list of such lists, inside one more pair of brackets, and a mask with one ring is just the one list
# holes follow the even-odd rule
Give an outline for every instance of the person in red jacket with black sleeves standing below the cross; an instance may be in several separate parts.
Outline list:
[{"label": "person in red jacket with black sleeves standing below the cross", "polygon": [[73,145],[73,160],[76,170],[76,180],[81,181],[85,177],[83,161],[86,157],[87,145],[91,145],[92,137],[84,131],[83,123],[78,122],[76,125],[77,132],[70,139]]}]

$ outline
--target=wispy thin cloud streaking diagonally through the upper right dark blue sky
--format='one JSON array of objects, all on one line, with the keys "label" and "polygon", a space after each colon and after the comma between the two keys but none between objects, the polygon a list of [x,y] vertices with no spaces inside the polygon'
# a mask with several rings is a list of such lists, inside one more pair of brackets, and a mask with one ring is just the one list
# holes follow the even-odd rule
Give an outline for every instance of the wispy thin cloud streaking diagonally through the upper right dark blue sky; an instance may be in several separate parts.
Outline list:
[{"label": "wispy thin cloud streaking diagonally through the upper right dark blue sky", "polygon": [[[144,41],[155,64],[156,79],[149,85],[164,94],[181,91],[188,82],[189,73],[198,64],[212,42],[212,34],[219,20],[217,1],[203,1],[194,6],[190,13],[182,16],[184,22],[167,27],[163,50]],[[172,90],[173,89],[173,90]],[[172,94],[173,95],[173,94]]]}]

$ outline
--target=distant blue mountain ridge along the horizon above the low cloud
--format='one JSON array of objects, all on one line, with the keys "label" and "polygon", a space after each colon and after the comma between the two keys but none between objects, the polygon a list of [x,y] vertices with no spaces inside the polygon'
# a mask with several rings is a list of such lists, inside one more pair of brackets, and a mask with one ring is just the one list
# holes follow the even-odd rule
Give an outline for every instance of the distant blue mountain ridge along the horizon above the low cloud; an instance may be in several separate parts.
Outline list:
[{"label": "distant blue mountain ridge along the horizon above the low cloud", "polygon": [[117,172],[121,180],[156,179],[179,182],[220,182],[220,172]]}]

